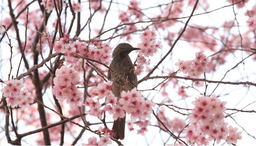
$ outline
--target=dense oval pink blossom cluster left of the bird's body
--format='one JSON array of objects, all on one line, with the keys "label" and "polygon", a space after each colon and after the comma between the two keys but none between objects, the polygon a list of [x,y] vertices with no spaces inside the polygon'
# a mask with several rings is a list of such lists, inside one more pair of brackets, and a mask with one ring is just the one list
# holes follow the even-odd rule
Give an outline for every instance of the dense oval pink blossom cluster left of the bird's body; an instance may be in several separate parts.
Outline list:
[{"label": "dense oval pink blossom cluster left of the bird's body", "polygon": [[83,102],[83,93],[76,88],[76,85],[80,84],[79,80],[78,71],[63,65],[60,69],[56,70],[56,77],[53,78],[54,87],[52,92],[60,101],[67,99],[70,107],[74,105],[80,106]]}]

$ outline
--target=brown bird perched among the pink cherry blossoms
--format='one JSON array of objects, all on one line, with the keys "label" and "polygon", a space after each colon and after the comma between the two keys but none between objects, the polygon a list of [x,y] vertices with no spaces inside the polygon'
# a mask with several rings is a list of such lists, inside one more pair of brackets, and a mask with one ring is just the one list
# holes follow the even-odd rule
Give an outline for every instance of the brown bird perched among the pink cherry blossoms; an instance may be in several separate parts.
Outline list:
[{"label": "brown bird perched among the pink cherry blossoms", "polygon": [[[120,43],[112,53],[113,59],[109,65],[109,68],[112,70],[108,70],[108,78],[116,83],[112,85],[112,92],[118,99],[121,98],[122,87],[131,91],[134,87],[137,88],[138,86],[138,78],[134,74],[135,68],[129,57],[129,53],[133,50],[140,49],[132,47],[129,43]],[[114,120],[112,130],[115,133],[115,139],[124,139],[125,117]]]}]

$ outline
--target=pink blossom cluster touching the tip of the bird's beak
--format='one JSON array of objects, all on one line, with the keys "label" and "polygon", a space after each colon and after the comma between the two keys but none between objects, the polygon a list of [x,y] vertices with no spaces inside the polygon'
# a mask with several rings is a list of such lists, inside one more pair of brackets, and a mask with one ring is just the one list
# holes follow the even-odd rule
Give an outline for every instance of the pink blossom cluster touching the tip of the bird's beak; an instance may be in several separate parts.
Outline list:
[{"label": "pink blossom cluster touching the tip of the bird's beak", "polygon": [[[142,27],[144,29],[144,27]],[[146,64],[145,57],[153,56],[154,53],[157,52],[158,49],[162,49],[162,46],[160,45],[161,42],[156,42],[156,36],[155,28],[152,29],[147,28],[141,35],[140,35],[140,41],[141,43],[138,43],[137,47],[140,50],[136,50],[136,52],[139,52],[137,59],[138,64],[136,65],[135,74],[139,75],[143,72],[144,64]]]}]

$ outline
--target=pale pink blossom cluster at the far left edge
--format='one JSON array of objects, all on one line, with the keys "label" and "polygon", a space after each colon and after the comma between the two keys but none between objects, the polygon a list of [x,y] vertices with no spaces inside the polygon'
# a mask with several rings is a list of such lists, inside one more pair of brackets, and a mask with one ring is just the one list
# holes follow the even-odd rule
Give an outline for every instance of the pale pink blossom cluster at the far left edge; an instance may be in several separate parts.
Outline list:
[{"label": "pale pink blossom cluster at the far left edge", "polygon": [[27,89],[21,89],[24,87],[23,80],[11,79],[4,81],[3,89],[1,92],[4,93],[4,97],[6,97],[7,106],[15,108],[20,107],[22,110],[29,107],[29,104],[34,102],[34,97],[31,96],[31,93],[27,91]]}]

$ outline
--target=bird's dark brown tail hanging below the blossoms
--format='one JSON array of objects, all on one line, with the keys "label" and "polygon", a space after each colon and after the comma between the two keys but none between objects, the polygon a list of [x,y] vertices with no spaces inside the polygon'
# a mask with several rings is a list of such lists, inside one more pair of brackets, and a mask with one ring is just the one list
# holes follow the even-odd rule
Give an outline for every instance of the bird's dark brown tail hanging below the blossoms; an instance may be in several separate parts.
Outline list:
[{"label": "bird's dark brown tail hanging below the blossoms", "polygon": [[114,120],[112,130],[114,130],[116,134],[116,136],[114,137],[115,139],[124,139],[125,117]]}]

